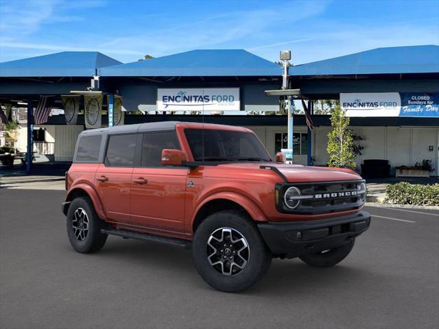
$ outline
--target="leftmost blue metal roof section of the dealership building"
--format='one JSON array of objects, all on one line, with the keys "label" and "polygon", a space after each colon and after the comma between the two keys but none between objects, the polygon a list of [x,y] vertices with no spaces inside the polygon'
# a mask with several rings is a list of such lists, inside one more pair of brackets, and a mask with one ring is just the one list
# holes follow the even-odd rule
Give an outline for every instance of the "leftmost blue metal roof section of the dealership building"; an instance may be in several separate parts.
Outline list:
[{"label": "leftmost blue metal roof section of the dealership building", "polygon": [[0,77],[91,77],[99,67],[121,64],[98,51],[62,51],[0,63]]}]

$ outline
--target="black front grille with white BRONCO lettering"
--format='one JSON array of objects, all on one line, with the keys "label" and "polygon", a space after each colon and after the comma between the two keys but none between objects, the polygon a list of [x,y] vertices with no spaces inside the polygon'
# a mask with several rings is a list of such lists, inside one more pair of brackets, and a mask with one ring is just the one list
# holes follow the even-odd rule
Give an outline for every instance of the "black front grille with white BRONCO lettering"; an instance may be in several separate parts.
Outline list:
[{"label": "black front grille with white BRONCO lettering", "polygon": [[[300,190],[300,195],[292,197],[292,199],[300,199],[298,206],[294,209],[286,205],[284,198],[288,188],[292,186]],[[276,189],[281,195],[278,198],[278,210],[296,214],[320,214],[357,209],[364,204],[366,199],[364,180],[285,183],[276,185]]]}]

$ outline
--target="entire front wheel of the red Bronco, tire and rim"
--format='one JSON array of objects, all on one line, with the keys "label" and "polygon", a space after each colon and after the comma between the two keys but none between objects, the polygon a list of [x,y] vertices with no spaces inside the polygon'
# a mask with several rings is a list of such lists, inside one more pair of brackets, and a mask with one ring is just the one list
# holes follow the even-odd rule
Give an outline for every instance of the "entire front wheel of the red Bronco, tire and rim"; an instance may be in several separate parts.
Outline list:
[{"label": "entire front wheel of the red Bronco, tire and rim", "polygon": [[193,236],[193,260],[200,276],[219,291],[252,287],[267,273],[272,255],[254,223],[225,210],[207,217]]}]

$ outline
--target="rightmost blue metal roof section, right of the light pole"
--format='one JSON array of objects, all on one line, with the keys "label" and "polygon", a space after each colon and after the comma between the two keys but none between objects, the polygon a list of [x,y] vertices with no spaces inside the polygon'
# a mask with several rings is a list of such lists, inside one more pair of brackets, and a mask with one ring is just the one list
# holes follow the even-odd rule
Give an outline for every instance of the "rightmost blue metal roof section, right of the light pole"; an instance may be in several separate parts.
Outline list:
[{"label": "rightmost blue metal roof section, right of the light pole", "polygon": [[296,76],[438,72],[438,45],[377,48],[289,68]]}]

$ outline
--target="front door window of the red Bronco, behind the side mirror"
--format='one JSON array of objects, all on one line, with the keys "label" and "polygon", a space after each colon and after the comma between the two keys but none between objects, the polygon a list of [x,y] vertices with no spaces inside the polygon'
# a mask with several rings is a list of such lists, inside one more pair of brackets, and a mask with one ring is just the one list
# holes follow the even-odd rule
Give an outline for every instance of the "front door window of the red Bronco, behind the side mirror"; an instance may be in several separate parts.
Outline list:
[{"label": "front door window of the red Bronco, behind the side mirror", "polygon": [[161,167],[163,149],[180,149],[175,131],[143,134],[142,167]]}]

